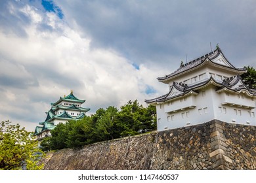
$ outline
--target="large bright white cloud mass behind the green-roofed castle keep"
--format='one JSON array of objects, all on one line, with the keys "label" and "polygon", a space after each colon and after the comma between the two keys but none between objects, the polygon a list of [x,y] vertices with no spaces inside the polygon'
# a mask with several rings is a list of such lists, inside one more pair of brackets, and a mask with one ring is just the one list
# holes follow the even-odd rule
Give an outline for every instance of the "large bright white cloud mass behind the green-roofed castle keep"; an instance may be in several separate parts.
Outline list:
[{"label": "large bright white cloud mass behind the green-roofed castle keep", "polygon": [[[91,114],[100,107],[120,107],[130,99],[143,104],[149,98],[146,86],[157,86],[153,83],[158,71],[144,65],[137,70],[114,50],[92,49],[89,38],[81,37],[56,15],[47,12],[48,18],[42,18],[29,5],[20,11],[33,20],[23,27],[27,36],[0,31],[1,74],[6,82],[14,78],[23,86],[15,82],[0,86],[1,120],[35,127],[45,119],[50,103],[70,90],[87,100],[83,107],[91,108]],[[53,31],[38,29],[39,24],[51,25]]]}]

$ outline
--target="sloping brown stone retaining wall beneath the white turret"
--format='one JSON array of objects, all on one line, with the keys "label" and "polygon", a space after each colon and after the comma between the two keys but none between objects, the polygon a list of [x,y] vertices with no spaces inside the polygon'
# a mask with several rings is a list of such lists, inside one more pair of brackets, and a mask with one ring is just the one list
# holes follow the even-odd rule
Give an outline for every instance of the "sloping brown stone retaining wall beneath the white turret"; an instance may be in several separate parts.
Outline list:
[{"label": "sloping brown stone retaining wall beneath the white turret", "polygon": [[256,127],[213,120],[47,154],[44,169],[256,169]]}]

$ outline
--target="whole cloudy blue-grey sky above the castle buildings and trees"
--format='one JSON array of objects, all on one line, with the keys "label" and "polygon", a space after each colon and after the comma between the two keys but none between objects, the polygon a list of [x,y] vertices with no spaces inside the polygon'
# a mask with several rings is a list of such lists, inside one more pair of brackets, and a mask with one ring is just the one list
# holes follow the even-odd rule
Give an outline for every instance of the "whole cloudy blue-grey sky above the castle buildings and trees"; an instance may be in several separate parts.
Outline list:
[{"label": "whole cloudy blue-grey sky above the castle buildings and trees", "polygon": [[256,1],[0,0],[0,120],[34,131],[51,103],[125,105],[168,92],[172,73],[219,44],[256,67]]}]

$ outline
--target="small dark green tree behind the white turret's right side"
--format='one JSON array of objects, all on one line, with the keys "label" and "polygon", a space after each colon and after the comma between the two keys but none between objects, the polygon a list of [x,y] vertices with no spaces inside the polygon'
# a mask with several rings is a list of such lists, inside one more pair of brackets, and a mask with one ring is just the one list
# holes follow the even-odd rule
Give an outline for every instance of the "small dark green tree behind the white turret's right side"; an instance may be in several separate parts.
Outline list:
[{"label": "small dark green tree behind the white turret's right side", "polygon": [[255,68],[248,66],[247,73],[241,75],[242,79],[244,80],[245,84],[249,88],[256,89],[256,71]]}]

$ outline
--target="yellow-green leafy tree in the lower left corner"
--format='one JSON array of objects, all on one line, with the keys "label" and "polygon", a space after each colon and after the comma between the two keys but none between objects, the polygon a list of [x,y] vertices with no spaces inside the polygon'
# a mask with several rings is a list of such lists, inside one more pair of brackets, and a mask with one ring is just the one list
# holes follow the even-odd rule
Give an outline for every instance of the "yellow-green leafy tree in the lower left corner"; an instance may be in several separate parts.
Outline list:
[{"label": "yellow-green leafy tree in the lower left corner", "polygon": [[0,125],[0,169],[42,169],[37,165],[43,152],[37,146],[30,132],[9,121]]}]

